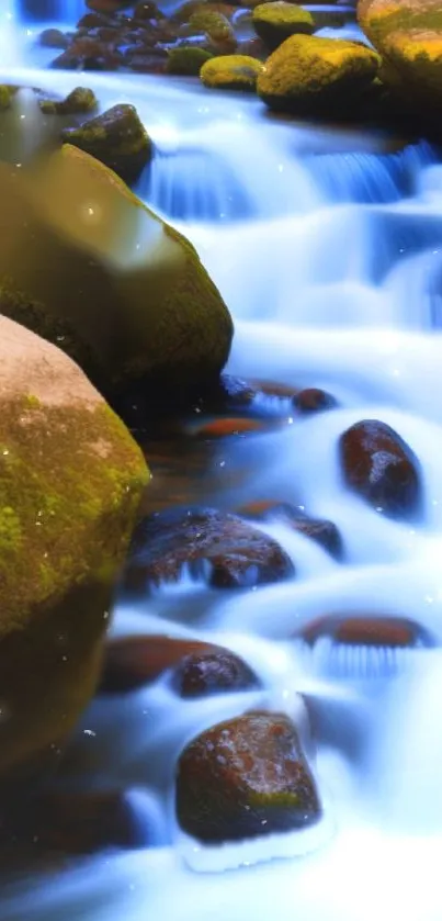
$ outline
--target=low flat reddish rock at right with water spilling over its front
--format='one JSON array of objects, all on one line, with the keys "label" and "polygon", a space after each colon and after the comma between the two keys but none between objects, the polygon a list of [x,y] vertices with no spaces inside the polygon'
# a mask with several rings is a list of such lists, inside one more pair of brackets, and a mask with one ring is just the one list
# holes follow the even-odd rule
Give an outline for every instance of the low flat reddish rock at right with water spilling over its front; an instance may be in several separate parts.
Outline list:
[{"label": "low flat reddish rock at right with water spilling over its front", "polygon": [[301,632],[305,642],[314,645],[328,637],[344,645],[389,647],[406,649],[433,645],[427,630],[405,617],[373,614],[342,614],[320,617]]}]

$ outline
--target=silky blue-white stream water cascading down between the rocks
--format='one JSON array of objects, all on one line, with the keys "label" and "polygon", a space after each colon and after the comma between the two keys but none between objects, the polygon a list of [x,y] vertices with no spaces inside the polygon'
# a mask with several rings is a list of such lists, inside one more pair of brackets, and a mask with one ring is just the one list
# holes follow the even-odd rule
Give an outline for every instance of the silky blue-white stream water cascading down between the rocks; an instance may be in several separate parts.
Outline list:
[{"label": "silky blue-white stream water cascading down between the rocks", "polygon": [[[14,80],[63,91],[78,75],[18,67]],[[84,80],[103,105],[135,102],[148,126],[157,156],[138,191],[192,239],[229,305],[228,370],[321,386],[339,401],[307,419],[287,414],[272,434],[220,442],[211,501],[302,504],[338,525],[345,557],[336,562],[283,524],[267,525],[296,563],[293,581],[226,595],[183,575],[138,606],[116,605],[114,634],[161,633],[166,624],[169,634],[209,637],[245,656],[264,689],[202,704],[178,700],[160,682],[94,701],[75,740],[83,776],[91,788],[132,789],[156,846],[5,885],[2,921],[440,921],[439,154],[423,142],[272,120],[254,100],[192,81]],[[392,425],[420,460],[424,508],[413,526],[377,514],[341,482],[339,436],[363,418]],[[167,501],[155,468],[154,486]],[[311,652],[293,640],[332,611],[400,614],[437,645],[393,653],[325,641]],[[297,692],[316,715],[326,805],[317,838],[207,858],[177,833],[177,755],[201,729],[252,705],[295,712]]]}]

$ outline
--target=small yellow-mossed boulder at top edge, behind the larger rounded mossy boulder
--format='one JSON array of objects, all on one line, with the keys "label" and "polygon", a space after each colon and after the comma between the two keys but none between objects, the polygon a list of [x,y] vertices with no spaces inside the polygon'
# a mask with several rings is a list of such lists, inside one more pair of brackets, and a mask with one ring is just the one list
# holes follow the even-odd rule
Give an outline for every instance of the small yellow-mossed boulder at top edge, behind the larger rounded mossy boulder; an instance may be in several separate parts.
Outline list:
[{"label": "small yellow-mossed boulder at top edge, behind the larger rounded mossy boulder", "polygon": [[272,52],[291,35],[311,35],[315,29],[311,13],[286,0],[260,3],[253,10],[252,21],[257,35]]}]

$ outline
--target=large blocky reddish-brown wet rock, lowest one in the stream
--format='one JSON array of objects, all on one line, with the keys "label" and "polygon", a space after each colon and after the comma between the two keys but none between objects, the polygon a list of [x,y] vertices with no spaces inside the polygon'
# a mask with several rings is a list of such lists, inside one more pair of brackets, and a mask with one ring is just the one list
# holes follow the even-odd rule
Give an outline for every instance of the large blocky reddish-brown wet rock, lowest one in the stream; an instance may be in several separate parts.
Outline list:
[{"label": "large blocky reddish-brown wet rock, lowest one in the stream", "polygon": [[321,815],[296,727],[251,712],[214,726],[182,752],[177,817],[207,844],[303,829]]}]

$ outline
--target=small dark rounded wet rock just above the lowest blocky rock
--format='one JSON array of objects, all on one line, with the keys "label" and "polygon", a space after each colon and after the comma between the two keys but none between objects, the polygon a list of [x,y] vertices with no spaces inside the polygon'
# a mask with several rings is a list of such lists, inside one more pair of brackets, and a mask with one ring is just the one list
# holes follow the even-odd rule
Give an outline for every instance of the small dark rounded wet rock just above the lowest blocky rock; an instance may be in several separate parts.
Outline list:
[{"label": "small dark rounded wet rock just above the lowest blocky rock", "polygon": [[260,686],[256,674],[228,649],[203,648],[185,655],[175,667],[172,687],[180,697],[207,697]]}]

